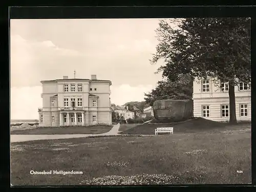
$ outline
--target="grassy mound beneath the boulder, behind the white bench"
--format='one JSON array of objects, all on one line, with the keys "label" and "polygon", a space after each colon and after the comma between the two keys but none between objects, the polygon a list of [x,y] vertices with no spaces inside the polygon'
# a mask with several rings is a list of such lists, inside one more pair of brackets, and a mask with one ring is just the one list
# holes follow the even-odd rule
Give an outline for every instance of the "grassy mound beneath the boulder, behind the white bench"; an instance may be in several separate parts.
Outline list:
[{"label": "grassy mound beneath the boulder, behind the white bench", "polygon": [[175,124],[143,124],[127,129],[121,134],[145,134],[145,135],[154,135],[155,129],[158,127],[173,127],[174,133],[197,133],[200,131],[211,131],[215,132],[218,130],[223,130],[226,128],[238,128],[242,125],[250,126],[251,123],[238,124],[236,126],[230,126],[227,123],[214,122],[205,118],[195,118],[184,123],[175,123]]}]

